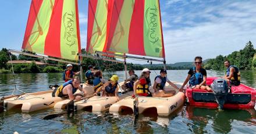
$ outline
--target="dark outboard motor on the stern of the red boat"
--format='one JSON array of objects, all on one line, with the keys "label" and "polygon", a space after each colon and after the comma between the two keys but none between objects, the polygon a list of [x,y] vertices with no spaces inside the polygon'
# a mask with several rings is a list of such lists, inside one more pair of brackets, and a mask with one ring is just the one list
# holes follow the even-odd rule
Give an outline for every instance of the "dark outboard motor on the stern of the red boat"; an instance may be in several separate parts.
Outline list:
[{"label": "dark outboard motor on the stern of the red boat", "polygon": [[227,93],[229,93],[229,88],[225,79],[215,79],[211,84],[211,88],[214,91],[215,99],[219,104],[219,109],[223,109],[223,105],[226,102]]}]

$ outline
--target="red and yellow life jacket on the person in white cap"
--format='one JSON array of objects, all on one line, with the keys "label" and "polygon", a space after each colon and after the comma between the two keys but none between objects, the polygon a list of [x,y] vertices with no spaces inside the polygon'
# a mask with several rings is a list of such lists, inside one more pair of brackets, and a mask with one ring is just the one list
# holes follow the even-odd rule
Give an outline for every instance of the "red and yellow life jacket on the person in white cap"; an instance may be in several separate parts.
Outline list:
[{"label": "red and yellow life jacket on the person in white cap", "polygon": [[[147,79],[140,79],[140,84],[137,85],[136,87],[136,93],[140,96],[148,96],[148,94],[150,93],[150,91],[148,90],[148,88],[150,88],[149,83],[147,81]],[[141,80],[144,80],[143,82],[141,82]]]}]

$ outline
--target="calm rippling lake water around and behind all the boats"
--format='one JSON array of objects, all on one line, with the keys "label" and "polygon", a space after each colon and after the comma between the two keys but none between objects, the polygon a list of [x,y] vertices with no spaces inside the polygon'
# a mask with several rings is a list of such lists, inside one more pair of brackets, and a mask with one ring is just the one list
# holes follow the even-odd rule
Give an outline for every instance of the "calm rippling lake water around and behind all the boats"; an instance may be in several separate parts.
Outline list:
[{"label": "calm rippling lake water around and behind all the boats", "polygon": [[[153,81],[159,71],[151,72]],[[220,77],[223,71],[207,71],[208,76]],[[123,71],[105,72],[104,78],[112,74],[119,75],[119,81],[125,79]],[[140,71],[136,71],[140,74]],[[183,82],[187,70],[169,70],[171,81]],[[256,88],[256,71],[241,71],[243,84]],[[47,90],[49,84],[62,84],[62,74],[0,74],[0,96],[10,95],[16,88],[24,92]],[[19,93],[19,92],[16,92]],[[105,113],[90,113],[79,111],[73,117],[43,120],[47,114],[52,114],[53,108],[26,114],[8,111],[0,113],[0,133],[255,133],[255,110],[211,110],[184,106],[169,115],[112,115]]]}]

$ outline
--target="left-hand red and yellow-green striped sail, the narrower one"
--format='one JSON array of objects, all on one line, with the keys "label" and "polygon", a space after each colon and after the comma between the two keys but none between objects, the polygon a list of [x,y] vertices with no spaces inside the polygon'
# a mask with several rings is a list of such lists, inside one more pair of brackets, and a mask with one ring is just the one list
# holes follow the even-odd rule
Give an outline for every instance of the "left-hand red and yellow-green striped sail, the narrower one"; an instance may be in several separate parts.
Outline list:
[{"label": "left-hand red and yellow-green striped sail, the narrower one", "polygon": [[80,48],[77,0],[32,0],[22,49],[78,60]]}]

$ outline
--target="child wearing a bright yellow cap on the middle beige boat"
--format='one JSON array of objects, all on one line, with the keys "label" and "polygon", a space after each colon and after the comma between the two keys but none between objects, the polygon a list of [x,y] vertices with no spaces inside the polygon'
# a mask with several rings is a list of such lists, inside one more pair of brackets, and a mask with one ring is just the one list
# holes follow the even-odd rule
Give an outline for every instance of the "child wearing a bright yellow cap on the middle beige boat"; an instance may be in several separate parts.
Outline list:
[{"label": "child wearing a bright yellow cap on the middle beige boat", "polygon": [[[118,79],[118,75],[112,75],[112,77],[105,82],[102,88],[102,96],[116,96],[116,98],[119,100],[118,90],[120,87],[118,84]],[[100,90],[97,90],[95,93],[97,94],[99,91]]]}]

